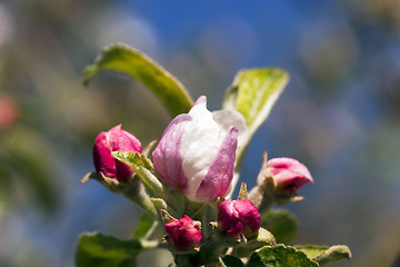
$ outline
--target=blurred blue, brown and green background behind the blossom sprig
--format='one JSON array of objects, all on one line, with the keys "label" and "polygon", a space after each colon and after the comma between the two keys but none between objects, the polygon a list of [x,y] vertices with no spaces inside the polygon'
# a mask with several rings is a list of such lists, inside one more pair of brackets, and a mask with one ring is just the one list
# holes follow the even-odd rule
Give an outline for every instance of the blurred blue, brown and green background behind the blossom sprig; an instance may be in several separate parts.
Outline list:
[{"label": "blurred blue, brown and green background behind the blossom sprig", "polygon": [[[216,3],[218,2],[218,3]],[[316,182],[287,206],[297,244],[349,245],[330,266],[392,266],[400,254],[400,1],[2,0],[0,266],[73,266],[82,231],[128,238],[139,210],[80,178],[96,136],[117,123],[146,145],[171,118],[139,82],[81,73],[101,48],[133,46],[219,109],[242,68],[291,81],[250,144],[306,164]],[[141,260],[167,266],[169,255]],[[149,264],[150,263],[150,264]],[[394,265],[393,265],[394,266]]]}]

